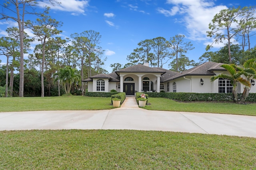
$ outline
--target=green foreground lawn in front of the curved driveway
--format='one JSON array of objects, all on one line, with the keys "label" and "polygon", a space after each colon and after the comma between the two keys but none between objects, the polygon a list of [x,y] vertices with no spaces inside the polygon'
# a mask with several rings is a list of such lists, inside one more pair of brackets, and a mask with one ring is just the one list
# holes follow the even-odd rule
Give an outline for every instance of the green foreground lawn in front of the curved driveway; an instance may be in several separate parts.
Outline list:
[{"label": "green foreground lawn in front of the curved driveway", "polygon": [[0,169],[255,169],[255,138],[138,130],[0,132]]}]

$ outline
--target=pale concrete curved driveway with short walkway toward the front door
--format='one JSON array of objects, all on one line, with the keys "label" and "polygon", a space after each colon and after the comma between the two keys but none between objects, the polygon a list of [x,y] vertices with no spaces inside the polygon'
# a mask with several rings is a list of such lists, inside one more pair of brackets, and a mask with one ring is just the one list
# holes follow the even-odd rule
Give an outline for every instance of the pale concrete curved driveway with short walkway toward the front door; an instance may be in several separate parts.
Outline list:
[{"label": "pale concrete curved driveway with short walkway toward the front door", "polygon": [[0,130],[134,129],[226,134],[256,138],[256,117],[213,113],[149,111],[126,97],[121,108],[102,111],[0,113]]}]

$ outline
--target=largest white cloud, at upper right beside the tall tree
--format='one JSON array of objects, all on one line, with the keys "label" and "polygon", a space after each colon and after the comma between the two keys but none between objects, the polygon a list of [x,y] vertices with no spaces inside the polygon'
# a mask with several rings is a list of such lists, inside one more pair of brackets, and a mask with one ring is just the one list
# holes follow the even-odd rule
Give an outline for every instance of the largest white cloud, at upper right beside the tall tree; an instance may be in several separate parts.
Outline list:
[{"label": "largest white cloud, at upper right beside the tall tree", "polygon": [[159,9],[158,12],[165,16],[180,14],[184,26],[191,40],[206,41],[206,31],[215,14],[226,6],[214,6],[214,0],[167,0],[167,4],[173,5],[170,10]]}]

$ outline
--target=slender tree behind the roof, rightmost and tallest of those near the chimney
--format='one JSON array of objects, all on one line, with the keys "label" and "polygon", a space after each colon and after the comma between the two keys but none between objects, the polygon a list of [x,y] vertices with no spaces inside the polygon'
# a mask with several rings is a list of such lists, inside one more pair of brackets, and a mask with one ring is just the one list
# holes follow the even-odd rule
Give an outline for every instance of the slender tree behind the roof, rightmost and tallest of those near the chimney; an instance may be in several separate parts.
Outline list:
[{"label": "slender tree behind the roof, rightmost and tallest of those near the chimney", "polygon": [[176,57],[176,71],[178,72],[178,57],[184,56],[188,50],[194,49],[191,42],[184,42],[184,35],[176,35],[170,38],[169,47],[172,50],[172,55]]}]

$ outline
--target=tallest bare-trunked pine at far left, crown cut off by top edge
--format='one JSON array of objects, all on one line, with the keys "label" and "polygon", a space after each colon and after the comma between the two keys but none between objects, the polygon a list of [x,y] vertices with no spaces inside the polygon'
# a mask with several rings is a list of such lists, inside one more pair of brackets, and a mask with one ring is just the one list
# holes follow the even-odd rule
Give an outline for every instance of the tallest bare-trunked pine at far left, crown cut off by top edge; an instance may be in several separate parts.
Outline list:
[{"label": "tallest bare-trunked pine at far left, crown cut off by top edge", "polygon": [[[20,38],[20,89],[19,97],[24,96],[24,25],[25,25],[25,15],[26,14],[38,14],[34,7],[36,6],[37,0],[5,0],[4,3],[0,5],[4,10],[10,13],[5,13],[4,10],[0,12],[0,20],[13,20],[18,23],[19,28],[19,38]],[[55,0],[50,0],[54,4]],[[15,9],[15,10],[14,10]]]}]

